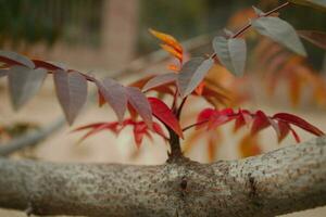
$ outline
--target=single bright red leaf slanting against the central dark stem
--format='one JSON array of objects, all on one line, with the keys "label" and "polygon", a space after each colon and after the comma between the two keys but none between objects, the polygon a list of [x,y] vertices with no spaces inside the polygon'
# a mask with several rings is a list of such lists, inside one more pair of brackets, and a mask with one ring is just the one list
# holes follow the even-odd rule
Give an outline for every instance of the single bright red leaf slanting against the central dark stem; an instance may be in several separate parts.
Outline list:
[{"label": "single bright red leaf slanting against the central dark stem", "polygon": [[168,106],[156,98],[148,98],[153,115],[184,139],[179,122]]}]

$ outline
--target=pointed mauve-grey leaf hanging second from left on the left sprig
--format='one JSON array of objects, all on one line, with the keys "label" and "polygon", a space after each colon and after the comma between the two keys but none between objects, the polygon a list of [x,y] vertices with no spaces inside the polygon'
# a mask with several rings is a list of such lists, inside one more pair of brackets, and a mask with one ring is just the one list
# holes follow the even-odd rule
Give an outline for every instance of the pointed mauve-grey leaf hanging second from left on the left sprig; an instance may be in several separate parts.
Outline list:
[{"label": "pointed mauve-grey leaf hanging second from left on the left sprig", "polygon": [[86,102],[87,80],[77,72],[55,71],[53,76],[58,100],[72,125]]}]

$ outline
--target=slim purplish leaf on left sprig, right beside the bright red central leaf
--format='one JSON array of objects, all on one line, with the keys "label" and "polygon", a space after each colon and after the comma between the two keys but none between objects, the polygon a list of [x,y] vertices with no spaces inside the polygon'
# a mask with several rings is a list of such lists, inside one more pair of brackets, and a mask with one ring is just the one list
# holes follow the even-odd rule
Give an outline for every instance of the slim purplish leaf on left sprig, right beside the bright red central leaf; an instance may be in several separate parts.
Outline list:
[{"label": "slim purplish leaf on left sprig, right beside the bright red central leaf", "polygon": [[126,87],[128,101],[142,117],[149,128],[152,128],[152,108],[145,94],[135,87]]}]

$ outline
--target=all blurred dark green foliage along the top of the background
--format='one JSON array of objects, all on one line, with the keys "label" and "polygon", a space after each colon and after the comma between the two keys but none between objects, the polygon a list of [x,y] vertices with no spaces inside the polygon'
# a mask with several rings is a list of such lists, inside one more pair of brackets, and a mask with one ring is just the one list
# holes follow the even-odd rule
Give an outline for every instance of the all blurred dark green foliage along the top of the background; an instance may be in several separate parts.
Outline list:
[{"label": "all blurred dark green foliage along the top of the background", "polygon": [[[0,46],[63,40],[67,44],[100,46],[104,0],[0,0]],[[224,28],[239,10],[258,5],[267,11],[278,0],[139,0],[138,53],[158,49],[148,34],[154,28],[179,40]],[[326,30],[326,14],[291,5],[280,16],[297,29]],[[306,43],[311,59],[319,65],[324,51]]]}]

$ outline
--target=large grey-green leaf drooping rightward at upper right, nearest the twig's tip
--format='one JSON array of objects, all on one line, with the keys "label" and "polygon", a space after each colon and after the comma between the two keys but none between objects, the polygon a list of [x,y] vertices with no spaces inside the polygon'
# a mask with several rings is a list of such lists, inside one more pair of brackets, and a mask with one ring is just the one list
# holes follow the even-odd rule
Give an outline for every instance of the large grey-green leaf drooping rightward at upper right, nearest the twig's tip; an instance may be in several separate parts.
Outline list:
[{"label": "large grey-green leaf drooping rightward at upper right, nearest the twig's tip", "polygon": [[296,29],[289,23],[278,17],[268,16],[253,20],[252,26],[261,35],[271,38],[300,55],[306,56]]}]

